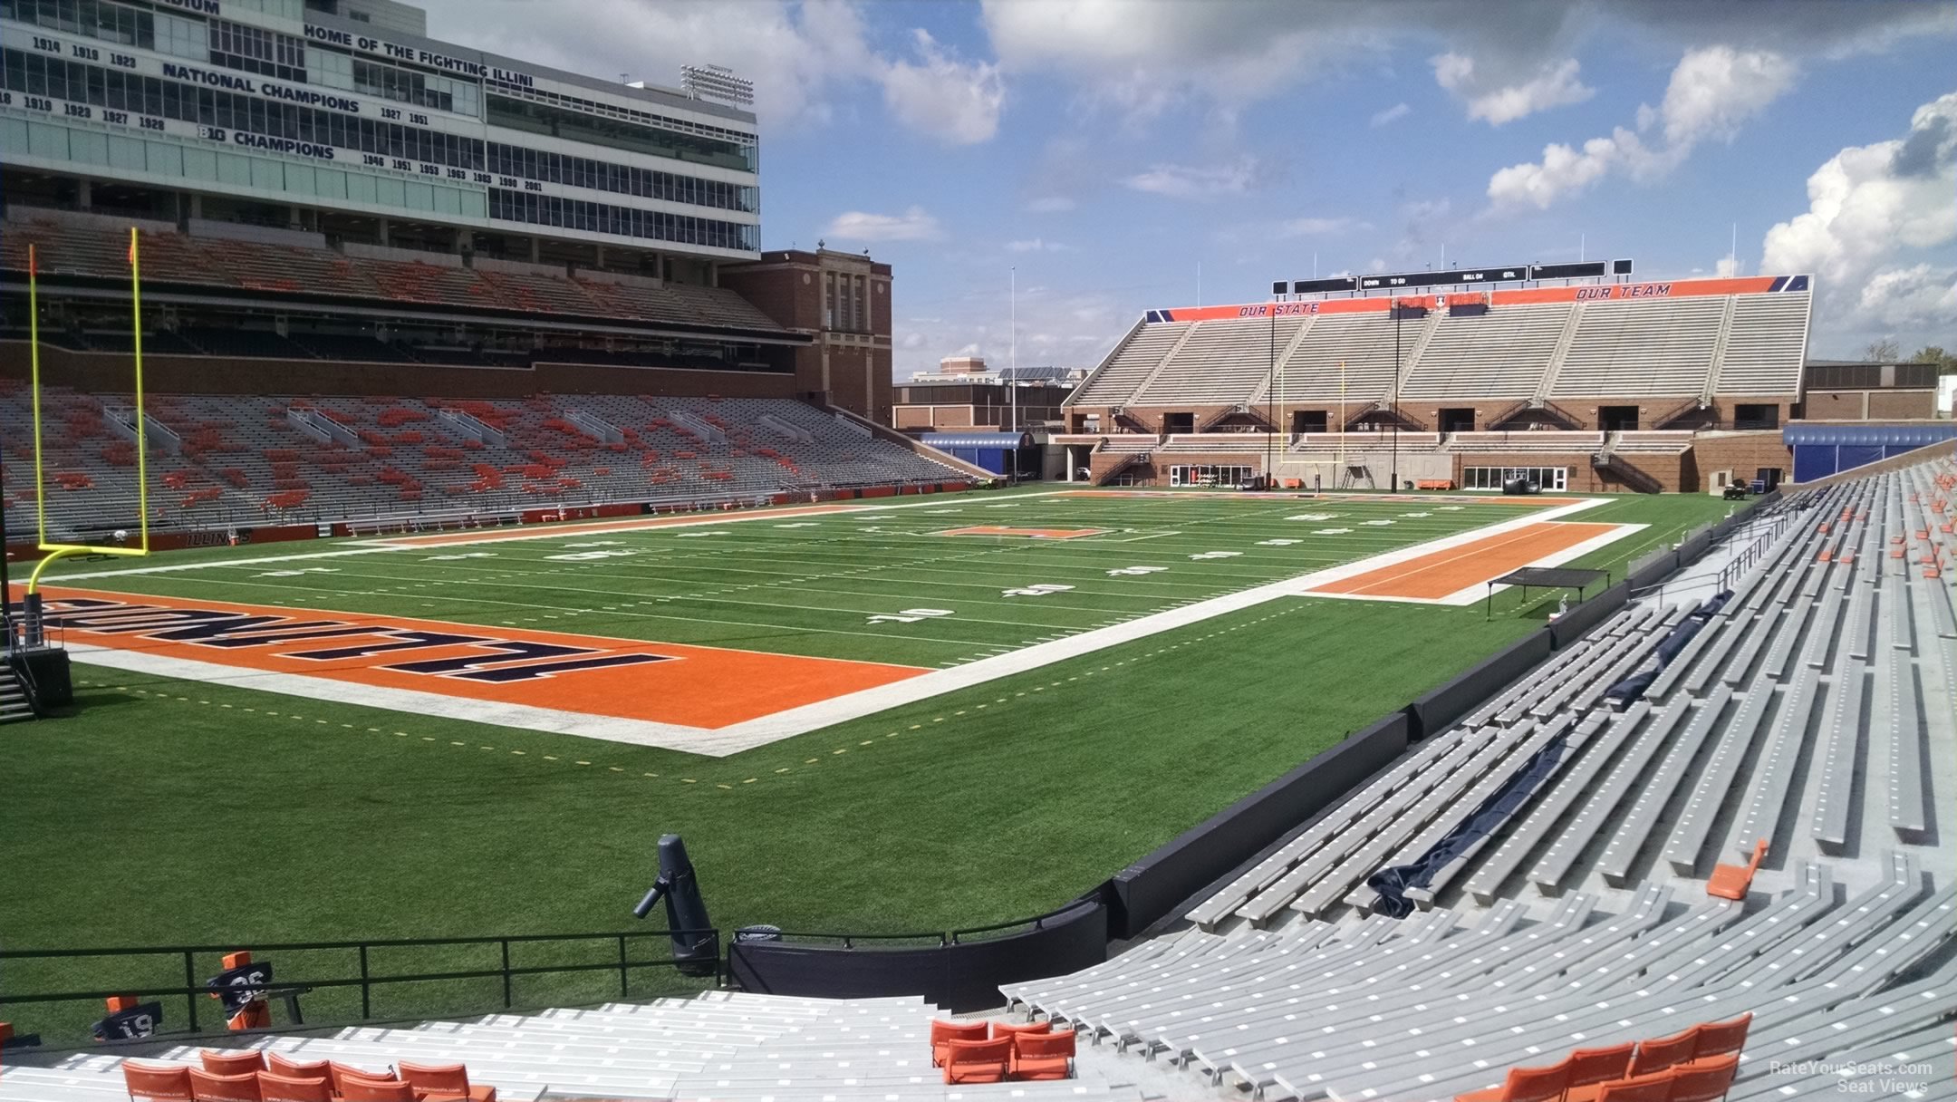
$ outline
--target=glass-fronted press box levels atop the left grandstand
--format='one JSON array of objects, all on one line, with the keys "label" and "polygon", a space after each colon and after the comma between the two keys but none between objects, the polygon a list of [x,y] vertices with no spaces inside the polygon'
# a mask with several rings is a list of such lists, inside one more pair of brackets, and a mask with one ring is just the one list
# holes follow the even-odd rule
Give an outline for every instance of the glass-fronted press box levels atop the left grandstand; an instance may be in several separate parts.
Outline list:
[{"label": "glass-fronted press box levels atop the left grandstand", "polygon": [[[204,166],[213,157],[219,164],[249,161],[254,164],[252,192],[290,190],[299,204],[327,206],[344,192],[352,202],[386,207],[393,202],[389,196],[403,194],[401,186],[434,186],[444,196],[468,200],[460,206],[442,200],[438,211],[478,211],[478,219],[660,241],[679,251],[695,245],[755,253],[759,247],[757,227],[751,225],[759,209],[759,188],[751,176],[759,164],[757,139],[748,129],[736,129],[744,125],[740,121],[716,125],[712,108],[687,108],[681,100],[665,106],[658,90],[618,94],[595,82],[591,94],[581,94],[579,78],[497,69],[493,59],[462,49],[444,57],[436,51],[448,47],[438,43],[427,49],[401,41],[399,47],[407,49],[397,49],[386,39],[356,41],[329,20],[307,20],[303,0],[223,4],[225,14],[262,12],[276,22],[243,23],[219,16],[215,4],[205,12],[170,12],[139,0],[0,0],[0,20],[49,31],[31,41],[16,33],[6,41],[10,49],[0,49],[0,88],[25,96],[8,96],[0,104],[0,117],[10,119],[8,133],[16,135],[8,153],[45,164],[63,161],[63,149],[78,151],[67,159],[100,176],[104,161],[96,157],[98,147],[119,149],[123,153],[114,153],[112,166],[188,184],[211,180],[202,170],[192,172],[192,164]],[[106,49],[82,45],[76,37]],[[211,69],[170,70],[153,55]],[[217,76],[213,69],[250,76]],[[258,78],[327,94],[260,84]],[[59,127],[43,125],[53,123],[49,115],[61,117]],[[129,137],[121,137],[123,127]],[[515,133],[499,135],[489,127]],[[22,137],[51,135],[55,129],[68,139]],[[532,143],[519,133],[558,141]],[[16,139],[20,149],[14,149]],[[129,153],[135,149],[147,153]],[[658,161],[624,164],[620,161],[638,157],[605,157],[607,149]],[[262,170],[274,162],[284,170]],[[689,172],[689,164],[726,172]],[[342,174],[348,178],[344,186],[339,182]],[[716,180],[708,174],[746,178]],[[354,176],[374,184],[354,184]],[[315,192],[311,182],[319,178],[331,180],[331,186]],[[364,194],[356,194],[362,188]],[[611,204],[562,194],[569,188],[622,200]],[[652,204],[634,206],[634,200]],[[644,209],[665,204],[699,207],[701,213]],[[411,207],[429,209],[425,204]],[[712,217],[712,211],[738,211],[750,221]],[[845,282],[838,290],[842,301],[832,305],[834,323],[842,329],[865,327],[865,288]]]}]

